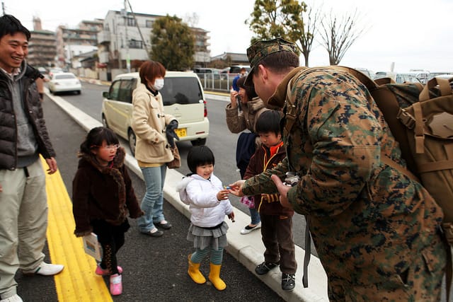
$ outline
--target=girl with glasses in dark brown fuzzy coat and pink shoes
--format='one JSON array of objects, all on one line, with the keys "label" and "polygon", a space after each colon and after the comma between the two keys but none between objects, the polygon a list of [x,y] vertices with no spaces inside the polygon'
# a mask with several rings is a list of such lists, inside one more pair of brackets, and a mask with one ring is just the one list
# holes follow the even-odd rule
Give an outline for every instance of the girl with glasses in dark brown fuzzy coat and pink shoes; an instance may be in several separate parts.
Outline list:
[{"label": "girl with glasses in dark brown fuzzy coat and pink shoes", "polygon": [[72,204],[77,237],[96,233],[103,249],[96,274],[110,275],[110,294],[122,293],[122,268],[116,253],[130,228],[126,216],[143,215],[124,165],[125,151],[105,127],[88,132],[80,145],[79,167],[72,182]]}]

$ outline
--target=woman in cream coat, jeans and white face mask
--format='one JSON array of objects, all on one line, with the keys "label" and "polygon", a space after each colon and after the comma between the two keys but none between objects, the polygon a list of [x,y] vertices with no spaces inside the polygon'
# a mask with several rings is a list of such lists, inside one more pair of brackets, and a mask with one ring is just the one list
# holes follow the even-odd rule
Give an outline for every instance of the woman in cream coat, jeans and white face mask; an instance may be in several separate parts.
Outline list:
[{"label": "woman in cream coat, jeans and white face mask", "polygon": [[132,93],[132,129],[137,137],[135,158],[142,169],[147,192],[142,199],[144,216],[137,222],[139,231],[151,237],[160,237],[171,223],[164,217],[164,180],[166,163],[173,161],[173,137],[166,135],[178,127],[172,115],[164,113],[162,95],[165,67],[159,62],[147,61],[140,67],[140,81]]}]

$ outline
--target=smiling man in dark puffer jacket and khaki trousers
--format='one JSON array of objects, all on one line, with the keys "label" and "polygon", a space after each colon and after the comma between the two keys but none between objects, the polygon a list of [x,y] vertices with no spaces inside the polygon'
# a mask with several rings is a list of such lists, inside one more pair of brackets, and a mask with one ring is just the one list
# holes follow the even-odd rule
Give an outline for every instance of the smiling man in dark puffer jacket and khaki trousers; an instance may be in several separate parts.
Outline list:
[{"label": "smiling man in dark puffer jacket and khaki trousers", "polygon": [[53,275],[63,265],[45,262],[47,230],[45,174],[57,171],[55,151],[42,115],[35,80],[28,66],[30,32],[13,16],[0,17],[0,296],[1,302],[22,301],[14,275]]}]

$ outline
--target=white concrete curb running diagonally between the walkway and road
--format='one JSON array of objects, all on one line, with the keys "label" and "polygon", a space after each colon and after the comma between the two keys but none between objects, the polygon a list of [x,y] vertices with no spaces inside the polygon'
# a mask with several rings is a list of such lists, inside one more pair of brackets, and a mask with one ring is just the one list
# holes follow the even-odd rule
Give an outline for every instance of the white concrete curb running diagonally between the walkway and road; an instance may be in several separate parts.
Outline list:
[{"label": "white concrete curb running diagonally between the walkway and road", "polygon": [[[98,81],[98,80],[95,80]],[[101,81],[98,81],[100,85],[103,85]],[[108,84],[107,84],[108,85]],[[219,100],[229,100],[227,94],[222,93],[207,93],[210,95],[210,98],[216,98]],[[215,96],[214,96],[215,95]],[[92,117],[88,116],[86,113],[82,112],[78,108],[75,108],[73,105],[67,103],[62,98],[55,98],[54,95],[47,93],[47,97],[53,100],[57,105],[59,105],[62,110],[67,112],[78,124],[81,125],[86,131],[93,127],[102,126],[101,122],[94,120]],[[129,149],[125,148],[127,151]],[[137,161],[129,153],[126,155],[125,163],[130,170],[142,178],[142,171],[137,165]],[[164,185],[164,198],[170,204],[173,205],[178,211],[180,211],[184,216],[190,219],[190,211],[186,204],[180,201],[178,193],[175,190],[176,183],[183,178],[183,175],[177,170],[168,169],[166,173],[166,180]],[[260,232],[252,232],[246,236],[240,234],[242,226],[246,225],[250,218],[247,214],[244,214],[239,209],[234,210],[235,213],[235,223],[231,223],[228,219],[226,220],[229,223],[229,232],[228,232],[228,244],[226,248],[228,252],[236,258],[241,264],[246,267],[248,270],[255,274],[256,265],[263,262],[263,252],[265,250],[263,242],[261,240]],[[277,294],[279,294],[285,301],[328,301],[327,296],[327,277],[326,272],[319,261],[319,258],[311,255],[311,261],[309,264],[309,288],[304,289],[302,286],[302,274],[303,274],[303,259],[305,252],[299,246],[296,246],[296,259],[298,261],[298,269],[296,272],[296,287],[294,291],[287,292],[282,291],[281,289],[281,272],[280,269],[273,269],[268,274],[263,276],[256,275],[257,278],[261,279],[265,284],[267,284],[270,289],[273,289]]]}]

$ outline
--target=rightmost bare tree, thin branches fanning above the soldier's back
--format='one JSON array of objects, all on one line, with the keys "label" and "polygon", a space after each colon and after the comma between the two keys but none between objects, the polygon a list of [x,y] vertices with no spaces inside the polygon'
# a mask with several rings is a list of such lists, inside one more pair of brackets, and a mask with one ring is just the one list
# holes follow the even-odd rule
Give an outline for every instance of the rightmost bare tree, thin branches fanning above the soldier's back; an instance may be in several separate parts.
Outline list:
[{"label": "rightmost bare tree, thin branches fanning above the soldier's back", "polygon": [[321,21],[322,44],[328,52],[328,60],[331,65],[340,64],[349,47],[365,32],[365,28],[360,27],[359,17],[360,14],[357,13],[356,8],[354,13],[347,13],[340,18],[333,16],[331,11],[330,18],[324,17]]}]

